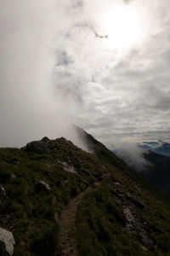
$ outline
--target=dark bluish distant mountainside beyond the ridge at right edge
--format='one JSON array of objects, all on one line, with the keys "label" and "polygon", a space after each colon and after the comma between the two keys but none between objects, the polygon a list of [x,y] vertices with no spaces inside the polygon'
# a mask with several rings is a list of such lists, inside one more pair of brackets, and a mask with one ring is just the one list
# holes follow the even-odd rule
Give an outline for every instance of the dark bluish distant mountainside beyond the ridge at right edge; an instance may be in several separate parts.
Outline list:
[{"label": "dark bluish distant mountainside beyond the ridge at right edge", "polygon": [[150,166],[142,172],[144,177],[170,194],[170,158],[153,151],[146,152],[144,158],[150,163]]}]

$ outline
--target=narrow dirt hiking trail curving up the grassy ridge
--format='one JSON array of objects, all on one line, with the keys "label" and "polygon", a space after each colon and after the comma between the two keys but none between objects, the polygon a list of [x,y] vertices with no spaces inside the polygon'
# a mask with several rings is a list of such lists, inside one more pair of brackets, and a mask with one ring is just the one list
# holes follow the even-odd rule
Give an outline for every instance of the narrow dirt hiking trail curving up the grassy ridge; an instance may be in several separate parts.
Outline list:
[{"label": "narrow dirt hiking trail curving up the grassy ridge", "polygon": [[[95,187],[100,183],[95,183]],[[95,189],[95,187],[88,187],[81,194],[72,199],[68,205],[61,212],[59,218],[60,235],[59,235],[59,255],[78,256],[77,252],[77,230],[76,230],[76,217],[78,204],[82,201],[84,195]]]}]

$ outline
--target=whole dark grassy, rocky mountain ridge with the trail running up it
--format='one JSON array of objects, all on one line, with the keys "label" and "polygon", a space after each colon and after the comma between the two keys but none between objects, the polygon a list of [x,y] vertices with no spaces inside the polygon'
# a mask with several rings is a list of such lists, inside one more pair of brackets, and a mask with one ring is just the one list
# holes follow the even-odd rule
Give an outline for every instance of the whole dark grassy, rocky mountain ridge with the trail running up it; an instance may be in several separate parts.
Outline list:
[{"label": "whole dark grassy, rocky mountain ridge with the trail running up it", "polygon": [[169,255],[169,197],[76,129],[0,148],[0,255]]}]

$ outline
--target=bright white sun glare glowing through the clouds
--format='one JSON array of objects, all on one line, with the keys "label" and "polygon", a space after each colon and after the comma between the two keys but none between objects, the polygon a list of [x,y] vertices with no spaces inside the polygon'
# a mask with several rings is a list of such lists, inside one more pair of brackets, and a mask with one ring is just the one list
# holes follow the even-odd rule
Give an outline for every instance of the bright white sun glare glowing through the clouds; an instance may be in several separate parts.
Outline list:
[{"label": "bright white sun glare glowing through the clouds", "polygon": [[107,44],[116,49],[128,49],[142,39],[139,16],[127,5],[114,7],[105,15],[103,30],[108,36]]}]

